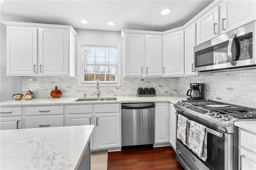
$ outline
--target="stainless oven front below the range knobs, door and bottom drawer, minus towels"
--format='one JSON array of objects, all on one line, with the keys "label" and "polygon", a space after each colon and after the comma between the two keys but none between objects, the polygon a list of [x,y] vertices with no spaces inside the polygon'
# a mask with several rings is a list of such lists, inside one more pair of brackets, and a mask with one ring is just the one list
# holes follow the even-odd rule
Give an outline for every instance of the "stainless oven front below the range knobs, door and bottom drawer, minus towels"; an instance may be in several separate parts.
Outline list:
[{"label": "stainless oven front below the range knobs, door and bottom drawer, minus towels", "polygon": [[[182,114],[189,120],[200,123],[207,128],[207,159],[203,161],[191,149],[176,138],[176,158],[186,169],[198,170],[231,170],[233,169],[233,135],[224,133],[204,122],[198,121],[184,113]],[[176,123],[177,126],[177,123]],[[177,133],[177,132],[176,132]],[[176,134],[177,136],[177,134]]]}]

